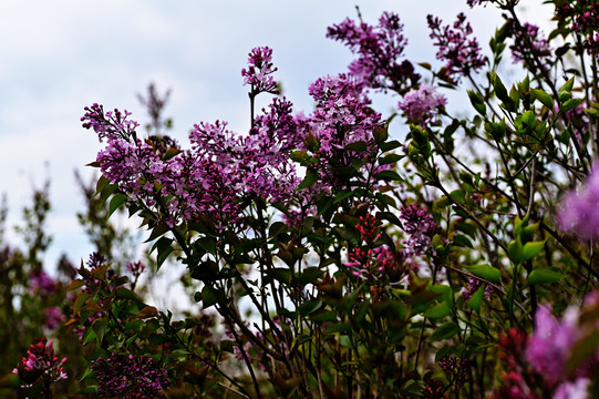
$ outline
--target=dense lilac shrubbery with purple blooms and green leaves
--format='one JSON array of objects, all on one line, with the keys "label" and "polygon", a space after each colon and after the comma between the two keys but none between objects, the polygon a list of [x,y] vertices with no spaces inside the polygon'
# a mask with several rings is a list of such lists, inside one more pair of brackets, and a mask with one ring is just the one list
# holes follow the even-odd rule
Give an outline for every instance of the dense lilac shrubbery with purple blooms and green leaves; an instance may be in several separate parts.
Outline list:
[{"label": "dense lilac shrubbery with purple blooms and green leaves", "polygon": [[[11,356],[27,356],[11,360],[19,366],[3,386],[47,398],[52,389],[81,398],[598,391],[599,3],[548,1],[547,37],[518,18],[517,1],[467,1],[483,3],[505,17],[489,59],[463,13],[453,24],[428,17],[438,70],[405,58],[394,13],[330,27],[357,58],[347,73],[316,80],[309,114],[281,95],[272,51],[251,50],[246,134],[203,122],[180,145],[163,132],[165,99],[154,90],[147,135],[126,111],[86,108],[83,126],[104,145],[84,218],[99,252],[69,287],[47,294],[30,250],[7,279],[29,288],[8,289],[2,303],[11,309],[20,291],[23,315],[7,317],[40,326],[49,308],[37,304],[28,319],[29,298],[52,295],[64,326],[28,334],[71,334],[81,345],[61,340],[63,361],[45,339],[29,351],[11,341]],[[527,71],[520,82],[495,72],[505,57]],[[444,90],[462,84],[472,117],[445,110]],[[395,115],[371,108],[374,92],[401,99],[405,139],[389,134]],[[258,95],[272,98],[260,112]],[[115,235],[97,215],[123,207],[141,217],[158,268],[187,266],[198,308],[184,319],[135,293],[141,263],[128,264],[128,278],[109,258]],[[44,212],[34,214],[25,231],[39,232],[28,243],[40,248]],[[4,256],[2,270],[18,258]],[[30,285],[23,273],[34,274]]]}]

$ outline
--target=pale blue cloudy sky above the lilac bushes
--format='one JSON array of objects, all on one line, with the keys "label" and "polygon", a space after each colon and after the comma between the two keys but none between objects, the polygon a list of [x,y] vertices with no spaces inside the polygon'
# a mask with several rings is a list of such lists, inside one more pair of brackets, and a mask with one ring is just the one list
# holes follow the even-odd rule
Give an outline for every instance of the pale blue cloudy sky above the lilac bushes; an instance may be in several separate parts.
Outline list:
[{"label": "pale blue cloudy sky above the lilac bushes", "polygon": [[[523,0],[533,22],[550,8]],[[148,121],[137,94],[148,83],[172,90],[165,116],[184,145],[202,121],[225,120],[245,132],[249,125],[247,88],[240,70],[258,45],[273,49],[276,79],[295,110],[309,112],[308,86],[319,76],[347,70],[351,53],[326,39],[327,27],[357,16],[374,23],[383,11],[399,13],[409,38],[407,59],[434,62],[426,14],[445,23],[459,11],[486,48],[502,22],[493,6],[469,10],[465,0],[104,0],[3,1],[0,3],[0,193],[9,204],[9,225],[18,224],[34,187],[50,180],[53,236],[47,262],[62,253],[79,264],[93,247],[75,213],[84,209],[74,171],[101,150],[93,132],[81,127],[83,108],[94,102],[133,112]],[[425,78],[425,71],[420,71]],[[465,99],[465,96],[463,98]],[[389,115],[399,99],[376,100]],[[466,100],[467,101],[467,100]],[[18,242],[12,228],[9,242]]]}]

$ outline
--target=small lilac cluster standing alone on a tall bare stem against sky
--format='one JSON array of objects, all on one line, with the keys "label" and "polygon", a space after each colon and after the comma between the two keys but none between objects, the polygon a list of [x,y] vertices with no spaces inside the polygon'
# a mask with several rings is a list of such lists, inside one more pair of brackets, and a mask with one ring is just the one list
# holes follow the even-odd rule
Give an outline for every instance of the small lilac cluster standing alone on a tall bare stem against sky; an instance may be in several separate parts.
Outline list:
[{"label": "small lilac cluster standing alone on a tall bare stem against sky", "polygon": [[250,95],[255,96],[262,92],[279,94],[277,82],[271,76],[277,71],[277,68],[272,66],[272,49],[254,48],[249,53],[248,63],[248,69],[241,70],[241,76],[244,76],[244,84],[251,86]]}]

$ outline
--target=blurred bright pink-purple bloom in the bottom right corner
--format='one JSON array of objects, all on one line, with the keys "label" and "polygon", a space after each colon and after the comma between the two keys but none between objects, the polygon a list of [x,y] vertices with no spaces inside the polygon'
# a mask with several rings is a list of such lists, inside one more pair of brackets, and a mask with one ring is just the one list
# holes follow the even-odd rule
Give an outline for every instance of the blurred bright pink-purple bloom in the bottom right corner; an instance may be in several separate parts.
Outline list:
[{"label": "blurred bright pink-purple bloom in the bottom right corner", "polygon": [[548,306],[540,306],[535,315],[535,331],[528,339],[526,359],[550,383],[564,376],[570,348],[578,337],[577,317],[577,309],[569,308],[564,320],[558,321]]}]

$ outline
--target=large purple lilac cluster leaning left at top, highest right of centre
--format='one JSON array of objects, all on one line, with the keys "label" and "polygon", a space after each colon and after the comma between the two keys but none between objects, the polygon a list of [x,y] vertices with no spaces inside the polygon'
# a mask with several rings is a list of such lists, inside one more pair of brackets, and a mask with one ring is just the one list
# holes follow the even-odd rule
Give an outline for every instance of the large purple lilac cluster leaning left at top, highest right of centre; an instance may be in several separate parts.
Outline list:
[{"label": "large purple lilac cluster leaning left at top, highest right of centre", "polygon": [[350,74],[373,89],[403,92],[417,85],[420,75],[407,60],[401,60],[407,40],[395,13],[384,12],[376,27],[345,19],[329,27],[327,37],[344,43],[358,54]]}]

